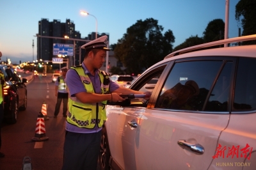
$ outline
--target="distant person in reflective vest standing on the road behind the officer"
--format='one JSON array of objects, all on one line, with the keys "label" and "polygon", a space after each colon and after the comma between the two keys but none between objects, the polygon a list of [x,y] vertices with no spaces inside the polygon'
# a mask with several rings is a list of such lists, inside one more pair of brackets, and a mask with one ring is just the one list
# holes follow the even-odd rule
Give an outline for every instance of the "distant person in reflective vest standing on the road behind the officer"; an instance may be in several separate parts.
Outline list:
[{"label": "distant person in reflective vest standing on the road behind the officer", "polygon": [[57,97],[57,103],[55,105],[54,118],[57,118],[60,112],[61,101],[63,100],[63,117],[67,118],[67,105],[68,105],[68,86],[65,82],[67,66],[61,68],[61,76],[55,82],[55,96]]}]

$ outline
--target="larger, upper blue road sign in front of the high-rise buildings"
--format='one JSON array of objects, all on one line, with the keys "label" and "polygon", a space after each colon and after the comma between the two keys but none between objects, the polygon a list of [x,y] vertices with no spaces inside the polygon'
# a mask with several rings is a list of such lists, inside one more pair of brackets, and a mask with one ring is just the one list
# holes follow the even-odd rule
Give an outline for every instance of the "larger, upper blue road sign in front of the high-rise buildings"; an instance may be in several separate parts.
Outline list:
[{"label": "larger, upper blue road sign in front of the high-rise buildings", "polygon": [[58,56],[67,55],[67,56],[74,56],[74,45],[67,44],[67,43],[54,43],[53,44],[53,55]]}]

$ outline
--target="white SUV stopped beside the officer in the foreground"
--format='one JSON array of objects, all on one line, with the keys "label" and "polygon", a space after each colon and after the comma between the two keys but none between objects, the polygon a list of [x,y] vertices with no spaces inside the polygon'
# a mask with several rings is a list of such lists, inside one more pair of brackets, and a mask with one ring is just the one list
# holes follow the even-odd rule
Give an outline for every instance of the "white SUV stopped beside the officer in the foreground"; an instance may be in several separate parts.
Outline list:
[{"label": "white SUV stopped beside the officer in the foreground", "polygon": [[159,77],[149,100],[106,107],[101,169],[255,169],[256,45],[209,49],[246,40],[178,50],[141,74],[131,89]]}]

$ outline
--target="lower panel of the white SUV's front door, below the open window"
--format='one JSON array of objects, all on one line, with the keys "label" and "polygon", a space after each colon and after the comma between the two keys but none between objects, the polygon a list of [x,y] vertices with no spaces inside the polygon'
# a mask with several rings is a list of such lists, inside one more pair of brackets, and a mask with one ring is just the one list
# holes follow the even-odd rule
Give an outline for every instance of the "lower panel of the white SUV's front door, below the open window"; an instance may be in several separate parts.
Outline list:
[{"label": "lower panel of the white SUV's front door, below the open window", "polygon": [[136,169],[134,140],[138,134],[141,112],[143,108],[118,107],[108,105],[106,107],[108,120],[108,143],[111,157],[122,169]]}]

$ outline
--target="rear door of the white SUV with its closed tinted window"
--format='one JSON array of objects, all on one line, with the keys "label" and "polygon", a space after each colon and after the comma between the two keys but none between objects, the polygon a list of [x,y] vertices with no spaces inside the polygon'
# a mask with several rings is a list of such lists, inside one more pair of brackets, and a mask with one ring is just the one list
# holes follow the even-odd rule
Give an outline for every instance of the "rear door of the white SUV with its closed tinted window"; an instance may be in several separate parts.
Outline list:
[{"label": "rear door of the white SUV with its closed tinted window", "polygon": [[[168,65],[150,98],[151,108],[141,112],[133,141],[138,143],[133,148],[137,169],[210,166],[218,138],[228,124],[235,61],[208,57]],[[143,77],[136,84],[145,81]]]}]

